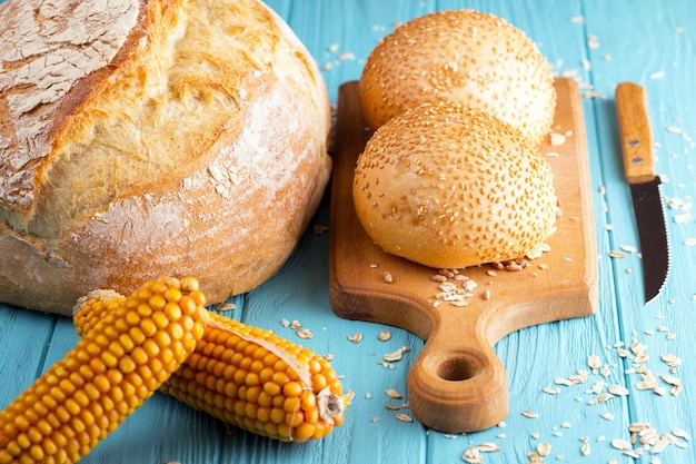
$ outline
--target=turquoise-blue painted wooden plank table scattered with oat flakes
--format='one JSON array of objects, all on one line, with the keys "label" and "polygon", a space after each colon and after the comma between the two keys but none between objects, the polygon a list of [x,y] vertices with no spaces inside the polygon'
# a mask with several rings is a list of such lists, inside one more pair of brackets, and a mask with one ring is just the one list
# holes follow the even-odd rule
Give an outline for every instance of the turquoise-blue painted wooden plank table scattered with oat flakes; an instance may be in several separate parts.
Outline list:
[{"label": "turquoise-blue painted wooden plank table scattered with oat flakes", "polygon": [[[307,444],[284,444],[195,412],[162,394],[137,411],[84,463],[460,463],[488,444],[486,463],[694,463],[696,451],[696,3],[693,0],[271,0],[316,58],[334,102],[359,78],[371,48],[400,22],[439,9],[494,12],[523,29],[558,76],[584,95],[599,268],[590,317],[526,328],[495,351],[509,378],[509,415],[468,434],[429,431],[409,415],[406,375],[422,342],[406,330],[334,315],[328,295],[329,221],[324,204],[285,268],[226,313],[334,355],[355,399],[342,426]],[[637,230],[613,101],[620,81],[643,85],[672,244],[663,295],[643,304]],[[615,254],[612,251],[619,251]],[[299,339],[281,322],[298,320]],[[380,342],[378,335],[392,337]],[[360,343],[348,339],[362,334]],[[77,342],[68,318],[0,305],[0,407]],[[382,355],[407,346],[385,367]],[[405,395],[391,399],[385,389]],[[387,407],[389,406],[389,407]],[[394,411],[394,407],[399,407]],[[635,432],[643,430],[642,433]],[[634,441],[632,443],[632,436]],[[623,447],[627,446],[628,450]],[[550,448],[549,448],[550,447]],[[469,454],[471,451],[469,450]],[[633,454],[632,457],[629,454]],[[638,456],[638,457],[636,457]]]}]

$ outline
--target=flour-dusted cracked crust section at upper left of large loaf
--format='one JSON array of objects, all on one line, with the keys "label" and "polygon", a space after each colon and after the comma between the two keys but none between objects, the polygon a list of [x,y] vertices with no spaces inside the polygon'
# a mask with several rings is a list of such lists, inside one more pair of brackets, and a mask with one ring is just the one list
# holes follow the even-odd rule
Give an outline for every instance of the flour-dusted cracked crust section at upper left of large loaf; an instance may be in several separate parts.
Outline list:
[{"label": "flour-dusted cracked crust section at upper left of large loaf", "polygon": [[61,99],[111,61],[138,13],[136,0],[0,6],[0,206],[33,206]]}]

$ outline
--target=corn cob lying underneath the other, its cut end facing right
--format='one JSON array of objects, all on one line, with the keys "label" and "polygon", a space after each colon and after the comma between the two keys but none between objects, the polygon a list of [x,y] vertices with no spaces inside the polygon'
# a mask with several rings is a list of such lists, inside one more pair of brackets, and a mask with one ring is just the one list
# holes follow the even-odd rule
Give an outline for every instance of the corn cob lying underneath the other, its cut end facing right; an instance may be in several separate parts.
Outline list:
[{"label": "corn cob lying underneath the other, its cut end facing right", "polygon": [[[76,324],[87,327],[90,320]],[[228,424],[285,442],[326,436],[344,422],[348,403],[327,359],[271,330],[212,312],[195,353],[160,391]]]}]

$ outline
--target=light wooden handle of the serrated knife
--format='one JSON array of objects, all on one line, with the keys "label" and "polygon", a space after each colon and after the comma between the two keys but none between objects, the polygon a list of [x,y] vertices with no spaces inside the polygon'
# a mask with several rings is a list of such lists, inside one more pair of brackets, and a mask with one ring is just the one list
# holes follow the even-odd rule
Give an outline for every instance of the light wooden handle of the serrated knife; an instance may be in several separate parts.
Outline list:
[{"label": "light wooden handle of the serrated knife", "polygon": [[655,158],[647,93],[637,83],[622,82],[616,88],[615,100],[626,179],[628,184],[653,180]]}]

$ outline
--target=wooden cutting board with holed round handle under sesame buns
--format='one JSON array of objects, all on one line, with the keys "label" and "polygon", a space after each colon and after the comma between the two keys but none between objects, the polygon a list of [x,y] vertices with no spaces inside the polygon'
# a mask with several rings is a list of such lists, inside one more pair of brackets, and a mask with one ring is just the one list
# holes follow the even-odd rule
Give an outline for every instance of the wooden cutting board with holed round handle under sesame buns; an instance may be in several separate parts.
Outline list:
[{"label": "wooden cutting board with holed round handle under sesame buns", "polygon": [[[428,268],[385,253],[362,229],[352,206],[356,160],[371,136],[359,103],[357,81],[339,89],[331,186],[329,284],[340,317],[389,324],[426,340],[408,374],[408,399],[416,418],[443,432],[491,427],[507,416],[507,375],[493,346],[535,324],[594,314],[597,253],[583,105],[575,81],[556,80],[554,132],[541,151],[554,172],[561,215],[548,238],[550,250],[523,270],[491,265],[460,269],[448,282],[464,290],[477,284],[466,306],[437,298],[441,283]],[[391,276],[387,282],[385,273]],[[439,295],[440,298],[443,295]],[[459,297],[460,298],[460,297]]]}]

